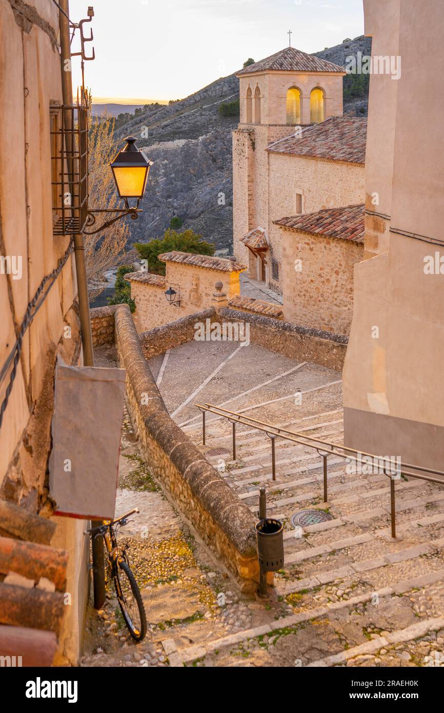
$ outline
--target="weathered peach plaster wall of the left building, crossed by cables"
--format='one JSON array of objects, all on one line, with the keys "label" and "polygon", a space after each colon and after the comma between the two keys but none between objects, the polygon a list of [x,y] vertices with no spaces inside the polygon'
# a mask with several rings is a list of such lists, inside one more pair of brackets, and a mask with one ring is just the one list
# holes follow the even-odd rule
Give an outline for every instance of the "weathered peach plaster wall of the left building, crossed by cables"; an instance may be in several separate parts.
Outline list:
[{"label": "weathered peach plaster wall of the left building, crossed by cables", "polygon": [[[22,268],[19,279],[0,274],[1,365],[38,285],[69,245],[68,237],[53,237],[52,230],[50,105],[63,103],[57,36],[58,10],[52,2],[0,0],[0,250],[4,257],[20,258]],[[67,364],[81,359],[76,294],[71,255],[26,331],[0,431],[0,497],[47,517],[52,512],[46,466],[56,356]],[[71,327],[70,336],[65,327]],[[1,387],[1,401],[9,374]],[[57,545],[76,550],[68,571],[73,600],[66,607],[70,640],[64,635],[60,640],[63,661],[75,663],[83,625],[79,612],[85,611],[88,578],[84,523],[57,520]]]}]

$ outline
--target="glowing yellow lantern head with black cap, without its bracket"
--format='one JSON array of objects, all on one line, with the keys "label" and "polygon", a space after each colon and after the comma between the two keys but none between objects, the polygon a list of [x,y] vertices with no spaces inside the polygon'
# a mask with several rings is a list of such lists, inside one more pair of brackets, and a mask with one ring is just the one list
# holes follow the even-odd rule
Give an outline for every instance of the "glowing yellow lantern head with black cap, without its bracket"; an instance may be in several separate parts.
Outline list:
[{"label": "glowing yellow lantern head with black cap, without its bracket", "polygon": [[151,162],[128,136],[125,148],[111,162],[115,185],[120,198],[143,198]]}]

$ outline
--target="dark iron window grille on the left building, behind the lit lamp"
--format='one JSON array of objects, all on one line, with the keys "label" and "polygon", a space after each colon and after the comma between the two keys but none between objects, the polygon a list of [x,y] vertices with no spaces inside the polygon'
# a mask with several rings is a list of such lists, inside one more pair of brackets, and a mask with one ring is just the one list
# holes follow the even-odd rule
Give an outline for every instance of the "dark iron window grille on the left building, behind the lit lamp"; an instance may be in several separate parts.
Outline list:
[{"label": "dark iron window grille on the left building, behind the lit lamp", "polygon": [[88,210],[88,111],[51,106],[53,235],[83,230]]}]

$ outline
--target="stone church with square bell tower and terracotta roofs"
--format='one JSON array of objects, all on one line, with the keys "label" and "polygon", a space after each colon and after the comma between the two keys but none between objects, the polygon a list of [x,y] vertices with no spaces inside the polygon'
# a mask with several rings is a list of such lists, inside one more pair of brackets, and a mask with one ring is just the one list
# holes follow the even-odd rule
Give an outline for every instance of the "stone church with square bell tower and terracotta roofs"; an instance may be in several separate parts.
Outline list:
[{"label": "stone church with square bell tower and terracotta roofs", "polygon": [[[291,295],[294,302],[298,290],[298,271],[291,274],[289,262],[300,257],[301,240],[306,245],[306,235],[321,234],[324,277],[330,274],[324,297],[317,296],[319,309],[336,291],[341,291],[342,302],[344,294],[348,295],[345,317],[338,317],[340,309],[334,310],[335,316],[327,315],[322,327],[343,334],[349,331],[351,322],[353,265],[363,255],[367,129],[365,118],[343,116],[345,74],[343,67],[293,47],[247,66],[237,74],[240,123],[233,132],[233,242],[237,261],[248,266],[251,279],[282,294],[284,319],[299,324],[309,319],[308,326],[317,327],[320,325],[313,311],[304,319],[302,307],[299,311],[286,309],[286,297]],[[339,214],[333,214],[339,215],[339,222],[334,225],[329,216],[325,234],[325,211],[333,209],[339,210]],[[344,215],[340,209],[346,210]],[[308,221],[297,222],[307,214],[311,215]],[[301,230],[293,229],[292,219]],[[316,238],[311,243],[309,251],[316,252]],[[338,250],[344,257],[340,269],[334,263]],[[304,275],[304,269],[309,270],[309,261],[302,260],[299,272],[304,285],[300,283],[299,287],[305,302],[310,302],[307,289],[318,276],[312,279]]]}]

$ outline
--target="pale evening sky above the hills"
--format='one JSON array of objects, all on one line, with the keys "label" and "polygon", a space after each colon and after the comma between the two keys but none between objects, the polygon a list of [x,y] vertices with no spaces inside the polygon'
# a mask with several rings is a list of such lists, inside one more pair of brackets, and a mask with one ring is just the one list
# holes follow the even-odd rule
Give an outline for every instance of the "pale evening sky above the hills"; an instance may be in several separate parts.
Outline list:
[{"label": "pale evening sky above the hills", "polygon": [[[85,63],[86,86],[108,101],[182,99],[248,57],[288,46],[289,29],[291,46],[309,53],[363,34],[362,0],[89,1],[95,60]],[[86,0],[69,6],[73,21],[86,17]]]}]

